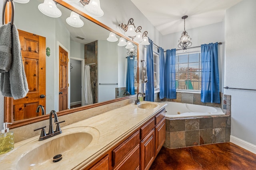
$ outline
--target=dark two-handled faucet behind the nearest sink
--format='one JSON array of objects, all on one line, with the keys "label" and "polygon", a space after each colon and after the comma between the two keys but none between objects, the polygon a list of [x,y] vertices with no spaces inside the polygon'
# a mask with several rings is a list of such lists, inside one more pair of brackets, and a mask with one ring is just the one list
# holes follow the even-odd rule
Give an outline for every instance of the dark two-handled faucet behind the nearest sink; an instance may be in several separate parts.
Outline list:
[{"label": "dark two-handled faucet behind the nearest sink", "polygon": [[[39,107],[39,106],[38,106],[38,107]],[[57,125],[55,131],[53,130],[53,125],[52,125],[52,114],[54,115],[54,122],[55,122],[55,124]],[[41,135],[40,135],[38,141],[43,141],[44,139],[48,139],[48,138],[50,138],[50,137],[53,137],[53,136],[55,136],[55,135],[58,135],[58,134],[62,133],[59,124],[62,123],[62,122],[64,122],[64,121],[59,121],[59,120],[58,120],[58,116],[57,116],[56,111],[52,110],[52,111],[50,112],[49,122],[50,122],[50,124],[49,124],[49,133],[48,133],[48,134],[45,133],[45,129],[44,129],[44,128],[46,128],[46,126],[40,127],[40,128],[37,128],[37,129],[34,129],[34,131],[37,131],[37,130],[42,129],[42,130],[41,130]]]}]

